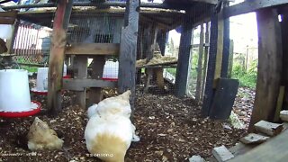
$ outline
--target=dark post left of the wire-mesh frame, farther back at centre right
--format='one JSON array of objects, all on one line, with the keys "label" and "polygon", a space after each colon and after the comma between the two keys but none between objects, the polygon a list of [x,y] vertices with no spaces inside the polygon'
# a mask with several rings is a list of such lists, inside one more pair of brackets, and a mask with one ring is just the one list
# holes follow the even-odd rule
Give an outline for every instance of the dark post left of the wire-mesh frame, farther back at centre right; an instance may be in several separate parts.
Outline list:
[{"label": "dark post left of the wire-mesh frame, farther back at centre right", "polygon": [[183,31],[181,32],[179,56],[175,78],[175,96],[184,97],[188,82],[190,67],[191,40],[193,38],[193,18],[186,14],[184,16]]}]

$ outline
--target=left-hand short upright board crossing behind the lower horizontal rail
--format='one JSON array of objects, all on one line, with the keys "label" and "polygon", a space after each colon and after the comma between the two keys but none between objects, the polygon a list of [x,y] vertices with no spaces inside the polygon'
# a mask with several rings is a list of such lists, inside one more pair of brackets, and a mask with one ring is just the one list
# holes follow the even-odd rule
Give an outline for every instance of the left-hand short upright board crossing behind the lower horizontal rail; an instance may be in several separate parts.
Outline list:
[{"label": "left-hand short upright board crossing behind the lower horizontal rail", "polygon": [[[87,59],[88,58],[85,56],[75,57],[74,69],[76,69],[76,75],[74,76],[76,76],[77,79],[83,80],[87,77],[87,61],[88,61]],[[71,84],[68,84],[68,85],[71,85]],[[79,84],[72,84],[72,86],[73,85],[77,86]],[[81,106],[83,109],[85,109],[86,107],[86,88],[85,87],[82,88],[81,92],[76,92],[76,100],[75,100],[76,104],[79,104],[79,106]]]}]

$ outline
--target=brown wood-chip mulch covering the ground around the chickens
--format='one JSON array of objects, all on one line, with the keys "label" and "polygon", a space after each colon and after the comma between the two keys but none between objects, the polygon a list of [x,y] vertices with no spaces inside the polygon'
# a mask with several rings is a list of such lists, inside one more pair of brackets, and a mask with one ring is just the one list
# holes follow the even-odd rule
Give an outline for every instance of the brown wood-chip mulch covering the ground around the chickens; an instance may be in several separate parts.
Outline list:
[{"label": "brown wood-chip mulch covering the ground around the chickens", "polygon": [[[32,152],[27,148],[26,135],[34,117],[0,118],[0,161],[100,161],[85,148],[85,110],[72,105],[71,94],[65,94],[63,110],[49,117],[45,97],[33,99],[43,103],[37,116],[47,121],[64,139],[61,150]],[[137,91],[133,123],[140,141],[132,142],[125,161],[187,161],[193,155],[211,157],[211,149],[232,147],[246,130],[234,130],[226,121],[201,117],[201,106],[191,98],[173,95],[142,94]]]}]

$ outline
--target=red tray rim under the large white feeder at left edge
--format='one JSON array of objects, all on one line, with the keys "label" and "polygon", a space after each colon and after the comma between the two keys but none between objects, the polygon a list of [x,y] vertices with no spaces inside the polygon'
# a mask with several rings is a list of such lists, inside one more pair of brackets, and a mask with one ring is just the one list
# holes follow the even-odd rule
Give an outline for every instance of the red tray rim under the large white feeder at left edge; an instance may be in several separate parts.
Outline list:
[{"label": "red tray rim under the large white feeder at left edge", "polygon": [[32,108],[31,107],[31,111],[27,111],[27,112],[0,112],[0,116],[1,117],[5,117],[5,118],[22,118],[22,117],[27,117],[27,116],[31,116],[34,114],[37,114],[41,111],[41,103],[36,102],[36,101],[31,101],[31,104],[37,104],[37,108]]}]

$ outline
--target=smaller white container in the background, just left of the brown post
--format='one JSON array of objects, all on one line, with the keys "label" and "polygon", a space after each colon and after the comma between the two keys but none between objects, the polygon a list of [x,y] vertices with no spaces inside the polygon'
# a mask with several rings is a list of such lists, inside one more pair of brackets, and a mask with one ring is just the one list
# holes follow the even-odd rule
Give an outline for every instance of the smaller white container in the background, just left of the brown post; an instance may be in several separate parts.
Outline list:
[{"label": "smaller white container in the background, just left of the brown post", "polygon": [[48,89],[48,67],[39,67],[37,71],[36,90],[45,92]]}]

